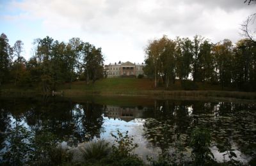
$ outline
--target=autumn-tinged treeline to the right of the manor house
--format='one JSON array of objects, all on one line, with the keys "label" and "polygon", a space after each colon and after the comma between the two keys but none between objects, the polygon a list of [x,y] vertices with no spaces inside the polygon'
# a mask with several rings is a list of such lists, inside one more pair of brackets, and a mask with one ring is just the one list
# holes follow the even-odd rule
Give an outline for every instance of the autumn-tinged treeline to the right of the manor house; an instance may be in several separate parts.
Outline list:
[{"label": "autumn-tinged treeline to the right of the manor house", "polygon": [[235,45],[230,40],[211,43],[202,36],[163,38],[149,41],[145,49],[144,72],[155,81],[209,82],[237,90],[256,90],[256,43],[243,39]]}]

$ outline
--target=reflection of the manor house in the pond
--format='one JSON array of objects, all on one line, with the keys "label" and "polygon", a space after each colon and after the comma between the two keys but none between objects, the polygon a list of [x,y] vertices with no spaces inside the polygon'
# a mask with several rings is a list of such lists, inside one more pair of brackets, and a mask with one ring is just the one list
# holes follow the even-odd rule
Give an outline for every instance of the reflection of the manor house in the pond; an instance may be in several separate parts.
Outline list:
[{"label": "reflection of the manor house in the pond", "polygon": [[147,107],[116,107],[112,105],[106,105],[104,117],[122,119],[123,121],[129,122],[135,118],[142,118],[143,112],[147,110]]}]

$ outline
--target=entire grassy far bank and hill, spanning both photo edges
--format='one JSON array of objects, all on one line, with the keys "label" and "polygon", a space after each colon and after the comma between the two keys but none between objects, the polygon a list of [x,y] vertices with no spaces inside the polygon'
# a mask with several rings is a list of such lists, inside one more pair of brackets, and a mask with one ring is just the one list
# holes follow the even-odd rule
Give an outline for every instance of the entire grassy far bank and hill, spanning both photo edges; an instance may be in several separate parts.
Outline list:
[{"label": "entire grassy far bank and hill, spanning both photo edges", "polygon": [[[70,88],[71,87],[71,88]],[[58,92],[63,91],[64,96],[72,98],[84,98],[88,94],[116,95],[116,96],[146,96],[146,98],[239,98],[256,100],[256,93],[235,91],[232,87],[221,89],[219,85],[212,85],[205,82],[191,82],[186,84],[175,81],[166,89],[163,84],[154,87],[154,80],[136,78],[109,78],[97,80],[94,84],[85,81],[76,81],[70,84],[63,84],[58,87]],[[51,92],[50,92],[51,93]],[[38,86],[14,87],[13,84],[5,84],[1,87],[1,96],[4,95],[35,95],[42,94]]]}]

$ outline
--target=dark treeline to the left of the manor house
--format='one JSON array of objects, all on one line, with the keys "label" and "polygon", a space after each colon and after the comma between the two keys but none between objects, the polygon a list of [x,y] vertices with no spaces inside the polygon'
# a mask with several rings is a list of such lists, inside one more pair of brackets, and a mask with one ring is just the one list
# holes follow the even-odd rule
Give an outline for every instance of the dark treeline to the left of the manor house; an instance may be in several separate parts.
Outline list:
[{"label": "dark treeline to the left of the manor house", "polygon": [[52,91],[65,82],[95,80],[103,77],[101,48],[71,38],[68,43],[53,40],[49,36],[36,39],[33,56],[26,61],[21,56],[22,41],[11,47],[5,34],[0,37],[0,86],[36,86],[42,91]]}]

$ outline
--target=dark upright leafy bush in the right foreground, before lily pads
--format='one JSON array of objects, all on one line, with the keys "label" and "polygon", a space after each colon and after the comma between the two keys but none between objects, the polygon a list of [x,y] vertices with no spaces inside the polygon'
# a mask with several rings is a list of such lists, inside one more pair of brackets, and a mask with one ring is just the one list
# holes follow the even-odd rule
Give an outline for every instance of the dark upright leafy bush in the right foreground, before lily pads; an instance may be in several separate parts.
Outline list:
[{"label": "dark upright leafy bush in the right foreground, before lily pads", "polygon": [[190,146],[194,165],[205,165],[214,158],[209,146],[211,145],[211,135],[205,128],[195,128],[191,133]]}]

